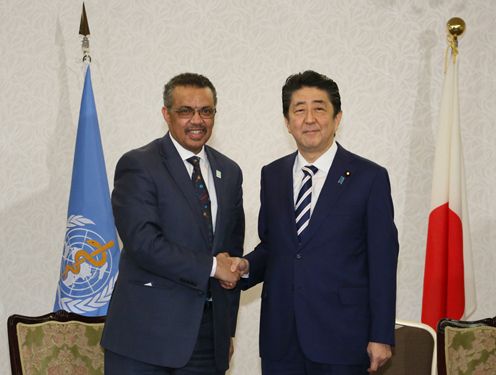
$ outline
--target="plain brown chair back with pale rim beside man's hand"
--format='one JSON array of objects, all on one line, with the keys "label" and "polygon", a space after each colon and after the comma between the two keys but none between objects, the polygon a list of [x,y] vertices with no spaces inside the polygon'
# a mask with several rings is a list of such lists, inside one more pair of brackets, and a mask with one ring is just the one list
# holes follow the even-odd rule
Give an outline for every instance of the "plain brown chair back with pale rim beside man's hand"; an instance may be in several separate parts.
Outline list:
[{"label": "plain brown chair back with pale rim beside man's hand", "polygon": [[396,320],[391,359],[376,375],[436,375],[436,332],[427,324]]}]

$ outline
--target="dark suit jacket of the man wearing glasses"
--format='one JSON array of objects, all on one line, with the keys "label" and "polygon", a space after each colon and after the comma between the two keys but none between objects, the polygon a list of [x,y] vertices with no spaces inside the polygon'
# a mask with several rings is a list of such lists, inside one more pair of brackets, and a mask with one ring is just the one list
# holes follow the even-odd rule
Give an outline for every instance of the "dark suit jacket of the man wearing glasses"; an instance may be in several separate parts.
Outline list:
[{"label": "dark suit jacket of the man wearing glasses", "polygon": [[[212,257],[223,251],[241,256],[244,240],[241,170],[211,147],[205,151],[218,202],[213,249],[191,177],[169,134],[119,160],[112,207],[123,250],[104,348],[173,368],[191,357]],[[216,279],[210,284],[216,364],[225,370],[239,291],[221,288]]]}]

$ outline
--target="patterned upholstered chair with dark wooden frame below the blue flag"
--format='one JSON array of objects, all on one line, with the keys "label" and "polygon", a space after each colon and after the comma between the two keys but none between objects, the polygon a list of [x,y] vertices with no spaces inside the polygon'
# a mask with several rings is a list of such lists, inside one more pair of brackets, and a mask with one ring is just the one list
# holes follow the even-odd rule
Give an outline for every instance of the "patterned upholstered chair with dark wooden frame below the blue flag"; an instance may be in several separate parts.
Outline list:
[{"label": "patterned upholstered chair with dark wooden frame below the blue flag", "polygon": [[105,317],[66,311],[7,320],[12,375],[103,374]]}]

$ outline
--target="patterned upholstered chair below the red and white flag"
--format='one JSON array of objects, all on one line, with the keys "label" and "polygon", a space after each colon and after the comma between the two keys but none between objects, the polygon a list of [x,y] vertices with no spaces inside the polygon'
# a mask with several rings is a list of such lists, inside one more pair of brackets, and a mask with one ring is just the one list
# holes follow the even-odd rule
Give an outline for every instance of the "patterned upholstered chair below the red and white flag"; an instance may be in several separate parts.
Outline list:
[{"label": "patterned upholstered chair below the red and white flag", "polygon": [[441,319],[437,341],[439,375],[496,374],[496,317]]}]

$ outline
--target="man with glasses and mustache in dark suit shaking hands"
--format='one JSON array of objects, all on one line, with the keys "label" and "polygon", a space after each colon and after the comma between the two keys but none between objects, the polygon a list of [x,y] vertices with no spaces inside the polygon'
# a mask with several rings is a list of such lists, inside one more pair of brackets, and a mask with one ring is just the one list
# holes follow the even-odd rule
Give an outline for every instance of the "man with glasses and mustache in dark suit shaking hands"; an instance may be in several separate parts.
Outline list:
[{"label": "man with glasses and mustache in dark suit shaking hands", "polygon": [[224,374],[244,240],[238,165],[205,145],[216,91],[184,73],[164,88],[169,132],[118,162],[112,207],[123,242],[102,346],[106,374]]}]

